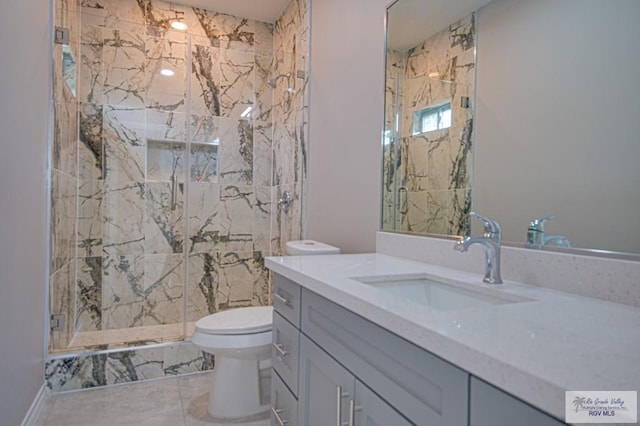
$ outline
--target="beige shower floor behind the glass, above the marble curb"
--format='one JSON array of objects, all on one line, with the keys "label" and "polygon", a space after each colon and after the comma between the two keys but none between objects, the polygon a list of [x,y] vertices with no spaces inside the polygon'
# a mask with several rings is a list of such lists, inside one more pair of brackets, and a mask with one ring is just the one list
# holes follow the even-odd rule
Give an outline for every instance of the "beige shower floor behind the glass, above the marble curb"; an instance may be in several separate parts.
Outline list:
[{"label": "beige shower floor behind the glass, above the marble curb", "polygon": [[195,322],[188,322],[186,335],[182,323],[166,325],[149,325],[133,328],[119,328],[114,330],[84,331],[76,333],[69,343],[69,347],[55,352],[70,350],[138,345],[141,343],[164,343],[184,340],[193,334]]}]

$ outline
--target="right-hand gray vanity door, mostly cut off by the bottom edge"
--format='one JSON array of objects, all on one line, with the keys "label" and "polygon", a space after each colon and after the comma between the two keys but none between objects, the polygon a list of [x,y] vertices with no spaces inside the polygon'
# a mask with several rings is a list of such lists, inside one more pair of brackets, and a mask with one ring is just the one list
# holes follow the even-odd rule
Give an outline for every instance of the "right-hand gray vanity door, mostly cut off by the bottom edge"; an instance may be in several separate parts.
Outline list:
[{"label": "right-hand gray vanity door, mostly cut off by the bottom edge", "polygon": [[[351,408],[351,407],[350,407]],[[356,380],[356,399],[354,406],[356,426],[412,426],[385,400],[371,389]]]}]

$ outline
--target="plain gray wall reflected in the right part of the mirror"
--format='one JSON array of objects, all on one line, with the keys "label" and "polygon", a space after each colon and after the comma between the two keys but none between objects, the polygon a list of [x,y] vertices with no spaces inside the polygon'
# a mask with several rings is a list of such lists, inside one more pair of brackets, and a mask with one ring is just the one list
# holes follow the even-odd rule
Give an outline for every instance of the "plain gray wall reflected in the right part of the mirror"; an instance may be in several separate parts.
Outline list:
[{"label": "plain gray wall reflected in the right part of the mirror", "polygon": [[640,2],[496,0],[478,18],[474,208],[524,242],[640,252]]}]

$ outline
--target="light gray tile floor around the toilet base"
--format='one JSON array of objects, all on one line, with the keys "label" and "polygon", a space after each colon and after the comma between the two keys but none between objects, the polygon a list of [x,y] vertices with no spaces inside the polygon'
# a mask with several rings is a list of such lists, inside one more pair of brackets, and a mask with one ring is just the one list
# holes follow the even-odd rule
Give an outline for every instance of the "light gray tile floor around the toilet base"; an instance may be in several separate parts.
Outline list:
[{"label": "light gray tile floor around the toilet base", "polygon": [[[223,426],[207,413],[210,382],[206,372],[51,394],[34,426]],[[240,424],[268,426],[269,420]]]}]

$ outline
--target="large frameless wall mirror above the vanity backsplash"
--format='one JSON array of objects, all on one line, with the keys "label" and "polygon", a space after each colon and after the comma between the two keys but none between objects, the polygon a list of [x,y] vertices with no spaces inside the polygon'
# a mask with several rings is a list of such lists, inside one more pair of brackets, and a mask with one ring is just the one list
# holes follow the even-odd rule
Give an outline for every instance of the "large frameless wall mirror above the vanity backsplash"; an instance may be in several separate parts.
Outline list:
[{"label": "large frameless wall mirror above the vanity backsplash", "polygon": [[[383,230],[478,233],[475,210],[523,247],[555,215],[538,248],[640,254],[640,2],[398,0],[387,15]],[[442,93],[452,126],[414,132]]]}]

